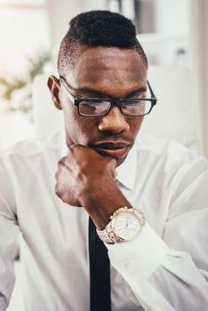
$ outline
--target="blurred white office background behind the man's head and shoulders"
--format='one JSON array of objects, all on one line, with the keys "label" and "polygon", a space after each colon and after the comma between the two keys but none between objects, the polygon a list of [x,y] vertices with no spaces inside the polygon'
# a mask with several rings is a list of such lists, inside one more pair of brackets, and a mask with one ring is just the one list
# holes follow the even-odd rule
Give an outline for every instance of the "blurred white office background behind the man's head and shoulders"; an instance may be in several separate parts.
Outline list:
[{"label": "blurred white office background behind the man's head and shoulders", "polygon": [[63,126],[47,76],[69,20],[96,9],[130,18],[148,55],[158,104],[142,131],[208,157],[207,0],[0,0],[0,148]]}]

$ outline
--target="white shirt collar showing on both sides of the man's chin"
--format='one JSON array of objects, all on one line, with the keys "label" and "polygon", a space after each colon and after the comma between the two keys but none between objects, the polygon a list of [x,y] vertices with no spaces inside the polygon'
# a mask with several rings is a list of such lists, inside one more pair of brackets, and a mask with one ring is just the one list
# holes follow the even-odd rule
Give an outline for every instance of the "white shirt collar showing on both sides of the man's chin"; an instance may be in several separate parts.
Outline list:
[{"label": "white shirt collar showing on both sides of the man's chin", "polygon": [[[68,146],[64,138],[62,147],[60,150],[60,157],[66,156],[68,153]],[[124,163],[116,168],[117,176],[116,180],[119,181],[124,187],[130,190],[134,187],[136,178],[136,148],[132,147]]]}]

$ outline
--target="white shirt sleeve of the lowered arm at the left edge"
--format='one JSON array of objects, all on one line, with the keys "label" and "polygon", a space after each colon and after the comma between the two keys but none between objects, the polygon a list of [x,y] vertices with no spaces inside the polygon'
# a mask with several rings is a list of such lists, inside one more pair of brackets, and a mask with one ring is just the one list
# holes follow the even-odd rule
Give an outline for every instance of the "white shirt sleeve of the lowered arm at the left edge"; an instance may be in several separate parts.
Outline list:
[{"label": "white shirt sleeve of the lowered arm at the left edge", "polygon": [[14,286],[14,259],[20,228],[15,216],[12,183],[0,161],[0,310],[8,307]]}]

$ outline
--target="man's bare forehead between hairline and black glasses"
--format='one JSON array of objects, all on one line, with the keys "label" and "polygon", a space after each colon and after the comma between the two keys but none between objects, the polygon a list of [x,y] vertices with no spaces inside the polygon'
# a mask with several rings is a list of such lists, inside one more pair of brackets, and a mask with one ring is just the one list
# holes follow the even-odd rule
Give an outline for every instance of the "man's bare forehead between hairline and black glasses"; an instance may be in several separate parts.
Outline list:
[{"label": "man's bare forehead between hairline and black glasses", "polygon": [[147,68],[138,52],[114,47],[87,48],[66,74],[73,89],[92,89],[112,97],[142,89],[147,82]]}]

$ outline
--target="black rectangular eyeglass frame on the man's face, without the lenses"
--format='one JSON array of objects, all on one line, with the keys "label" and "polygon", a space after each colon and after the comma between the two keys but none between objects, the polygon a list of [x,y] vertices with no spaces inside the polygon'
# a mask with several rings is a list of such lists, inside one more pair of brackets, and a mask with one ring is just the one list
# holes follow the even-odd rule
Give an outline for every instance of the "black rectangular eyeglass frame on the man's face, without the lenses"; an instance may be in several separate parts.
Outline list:
[{"label": "black rectangular eyeglass frame on the man's face, without the lenses", "polygon": [[[156,105],[156,96],[151,88],[151,85],[149,84],[149,82],[147,81],[147,84],[148,84],[148,89],[149,89],[149,92],[150,92],[150,95],[151,95],[151,98],[138,98],[138,99],[124,99],[124,100],[108,100],[108,99],[104,99],[104,98],[92,98],[92,99],[77,99],[76,97],[74,97],[71,92],[68,90],[68,86],[67,86],[67,82],[65,81],[64,77],[63,76],[60,76],[60,84],[61,86],[67,91],[67,94],[68,94],[68,99],[72,102],[73,105],[76,106],[77,108],[77,111],[78,111],[78,114],[80,116],[106,116],[108,115],[108,112],[110,111],[110,109],[113,107],[113,106],[116,106],[117,108],[119,108],[119,110],[121,111],[121,113],[124,115],[124,116],[147,116],[148,114],[150,114],[150,112],[152,111],[152,108]],[[110,103],[109,107],[108,107],[108,110],[103,113],[103,114],[98,114],[98,115],[84,115],[83,113],[80,112],[80,109],[79,109],[79,104],[81,101],[93,101],[93,100],[105,100],[107,102]],[[122,111],[122,103],[124,103],[125,101],[131,101],[132,103],[133,102],[137,102],[138,100],[140,101],[150,101],[151,102],[151,108],[149,109],[148,113],[145,113],[145,114],[140,114],[140,115],[131,115],[131,114],[126,114]]]}]

